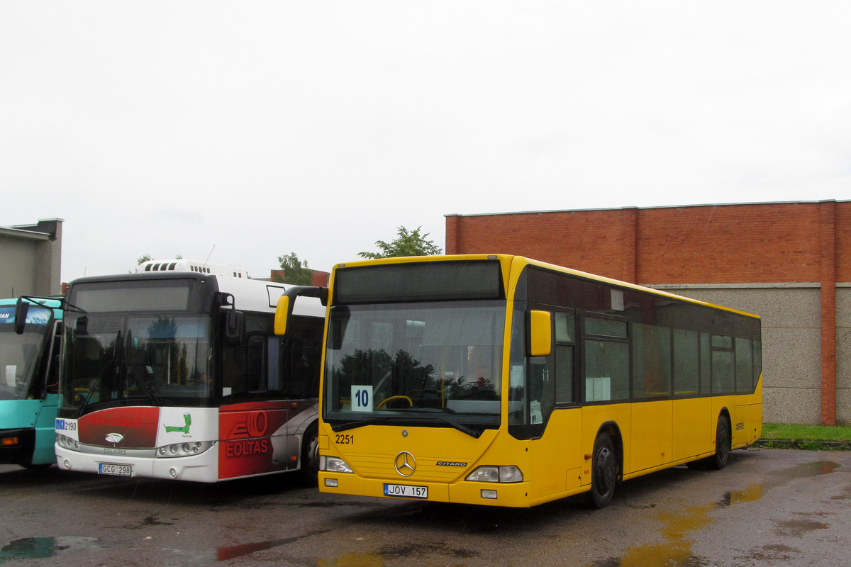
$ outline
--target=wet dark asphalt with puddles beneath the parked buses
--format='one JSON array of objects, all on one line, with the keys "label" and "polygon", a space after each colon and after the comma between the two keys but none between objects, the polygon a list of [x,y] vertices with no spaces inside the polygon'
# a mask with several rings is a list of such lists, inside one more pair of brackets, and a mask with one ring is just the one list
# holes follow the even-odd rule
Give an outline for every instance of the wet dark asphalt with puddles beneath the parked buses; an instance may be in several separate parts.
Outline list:
[{"label": "wet dark asphalt with puddles beneath the parked buses", "polygon": [[0,466],[0,565],[851,564],[851,452],[734,451],[529,509],[320,494],[286,476],[194,485]]}]

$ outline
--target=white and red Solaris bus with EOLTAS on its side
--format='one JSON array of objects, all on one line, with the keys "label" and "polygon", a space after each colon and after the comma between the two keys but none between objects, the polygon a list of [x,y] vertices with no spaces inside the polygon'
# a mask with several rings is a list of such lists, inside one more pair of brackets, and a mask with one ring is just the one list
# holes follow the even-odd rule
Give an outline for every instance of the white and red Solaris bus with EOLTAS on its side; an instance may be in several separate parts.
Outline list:
[{"label": "white and red Solaris bus with EOLTAS on its side", "polygon": [[300,471],[317,478],[325,309],[293,286],[175,259],[72,281],[56,418],[61,469],[217,482]]}]

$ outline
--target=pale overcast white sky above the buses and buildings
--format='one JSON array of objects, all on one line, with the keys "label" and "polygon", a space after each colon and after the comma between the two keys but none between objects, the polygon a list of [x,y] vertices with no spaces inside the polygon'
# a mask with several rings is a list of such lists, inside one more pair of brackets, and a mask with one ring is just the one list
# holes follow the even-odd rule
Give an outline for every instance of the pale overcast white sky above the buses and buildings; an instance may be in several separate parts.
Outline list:
[{"label": "pale overcast white sky above the buses and buildings", "polygon": [[[268,276],[444,214],[851,199],[847,2],[0,0],[0,225]],[[499,252],[499,251],[497,251]]]}]

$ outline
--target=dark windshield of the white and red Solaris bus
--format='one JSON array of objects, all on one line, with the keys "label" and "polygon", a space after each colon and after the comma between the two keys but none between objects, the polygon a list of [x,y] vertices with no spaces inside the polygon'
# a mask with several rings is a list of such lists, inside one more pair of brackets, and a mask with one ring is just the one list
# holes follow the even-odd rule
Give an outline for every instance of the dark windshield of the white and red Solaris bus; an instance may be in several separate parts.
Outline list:
[{"label": "dark windshield of the white and red Solaris bus", "polygon": [[203,406],[213,394],[209,316],[66,316],[62,407]]}]

